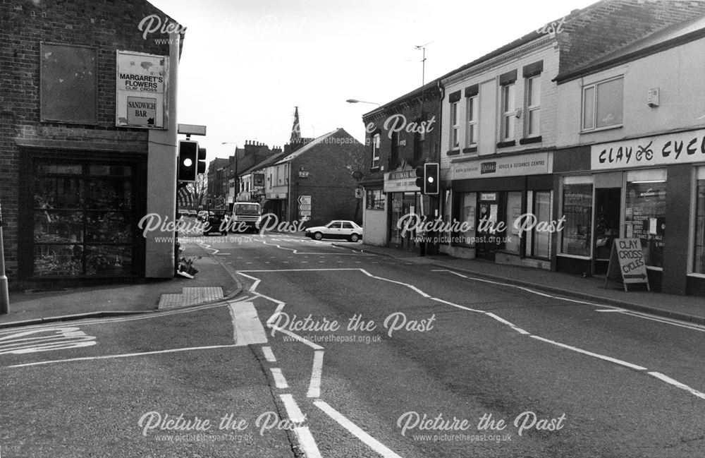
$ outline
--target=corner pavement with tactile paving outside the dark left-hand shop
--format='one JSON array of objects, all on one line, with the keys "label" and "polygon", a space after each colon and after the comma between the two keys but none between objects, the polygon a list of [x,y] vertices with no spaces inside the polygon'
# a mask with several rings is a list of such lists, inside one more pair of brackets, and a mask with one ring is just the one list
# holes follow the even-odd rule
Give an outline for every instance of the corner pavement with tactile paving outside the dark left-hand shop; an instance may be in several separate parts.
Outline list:
[{"label": "corner pavement with tactile paving outside the dark left-hand shop", "polygon": [[204,248],[190,244],[183,255],[195,258],[193,265],[198,273],[193,279],[177,276],[65,291],[10,291],[10,313],[0,315],[0,328],[154,313],[164,308],[212,303],[240,293],[240,283]]}]

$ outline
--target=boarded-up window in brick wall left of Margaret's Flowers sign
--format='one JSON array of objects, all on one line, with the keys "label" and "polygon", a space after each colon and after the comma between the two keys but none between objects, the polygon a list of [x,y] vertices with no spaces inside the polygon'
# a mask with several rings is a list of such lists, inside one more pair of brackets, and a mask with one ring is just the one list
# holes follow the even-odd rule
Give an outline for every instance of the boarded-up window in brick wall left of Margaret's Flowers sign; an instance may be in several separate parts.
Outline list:
[{"label": "boarded-up window in brick wall left of Margaret's Flowers sign", "polygon": [[97,123],[97,48],[42,43],[42,121]]}]

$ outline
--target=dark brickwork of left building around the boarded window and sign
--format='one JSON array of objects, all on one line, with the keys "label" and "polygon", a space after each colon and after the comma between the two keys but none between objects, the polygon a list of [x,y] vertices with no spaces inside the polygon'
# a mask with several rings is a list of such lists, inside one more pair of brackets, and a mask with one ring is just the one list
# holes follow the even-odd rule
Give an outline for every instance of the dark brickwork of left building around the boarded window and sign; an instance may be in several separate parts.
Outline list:
[{"label": "dark brickwork of left building around the boarded window and sign", "polygon": [[[18,143],[30,140],[47,145],[49,141],[66,149],[95,150],[96,155],[111,155],[115,145],[147,152],[147,131],[115,126],[116,49],[168,54],[168,43],[155,41],[166,36],[154,33],[145,39],[137,29],[140,21],[152,14],[173,22],[142,0],[0,2],[0,200],[6,270],[11,280],[16,279],[18,267],[17,199],[22,159]],[[39,121],[40,42],[97,48],[95,125]]]}]

